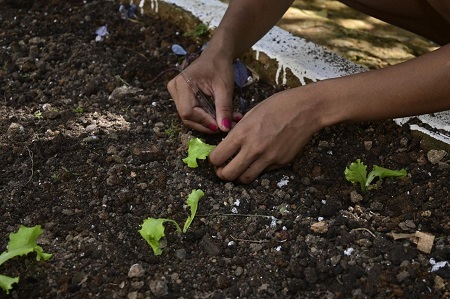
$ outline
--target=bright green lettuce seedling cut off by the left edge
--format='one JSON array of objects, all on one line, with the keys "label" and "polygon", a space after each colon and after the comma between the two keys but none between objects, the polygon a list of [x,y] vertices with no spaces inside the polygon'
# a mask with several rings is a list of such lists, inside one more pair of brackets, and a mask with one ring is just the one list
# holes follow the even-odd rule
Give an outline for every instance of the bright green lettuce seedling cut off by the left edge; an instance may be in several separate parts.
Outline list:
[{"label": "bright green lettuce seedling cut off by the left edge", "polygon": [[[48,260],[51,258],[51,254],[45,253],[42,247],[37,245],[37,239],[42,234],[40,225],[34,227],[20,226],[17,233],[11,233],[9,235],[8,249],[0,255],[0,266],[7,260],[16,256],[27,255],[31,252],[36,252],[36,260]],[[0,275],[0,287],[9,294],[14,283],[19,282],[19,277],[9,277],[6,275]]]}]

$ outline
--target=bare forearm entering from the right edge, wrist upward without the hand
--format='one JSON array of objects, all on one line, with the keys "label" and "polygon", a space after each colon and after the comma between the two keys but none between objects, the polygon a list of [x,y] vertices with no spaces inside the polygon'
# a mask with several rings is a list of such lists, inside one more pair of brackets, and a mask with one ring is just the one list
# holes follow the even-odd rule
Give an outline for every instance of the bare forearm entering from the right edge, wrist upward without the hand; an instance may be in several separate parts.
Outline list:
[{"label": "bare forearm entering from the right edge, wrist upward without the hand", "polygon": [[450,109],[450,45],[411,61],[323,84],[324,126]]}]

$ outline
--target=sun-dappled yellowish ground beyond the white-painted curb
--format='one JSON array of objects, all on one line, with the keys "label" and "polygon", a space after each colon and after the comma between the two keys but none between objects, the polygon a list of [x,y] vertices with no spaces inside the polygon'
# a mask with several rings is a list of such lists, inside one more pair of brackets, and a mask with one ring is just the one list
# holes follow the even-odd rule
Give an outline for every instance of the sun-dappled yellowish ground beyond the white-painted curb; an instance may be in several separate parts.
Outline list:
[{"label": "sun-dappled yellowish ground beyond the white-painted curb", "polygon": [[339,1],[294,1],[278,26],[369,68],[420,56],[436,45]]}]

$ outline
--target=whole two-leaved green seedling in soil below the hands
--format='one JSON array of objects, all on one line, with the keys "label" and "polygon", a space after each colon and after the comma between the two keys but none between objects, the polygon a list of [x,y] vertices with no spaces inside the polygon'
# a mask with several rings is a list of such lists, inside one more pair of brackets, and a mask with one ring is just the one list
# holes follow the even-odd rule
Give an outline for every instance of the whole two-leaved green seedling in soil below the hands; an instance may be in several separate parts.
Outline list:
[{"label": "whole two-leaved green seedling in soil below the hands", "polygon": [[139,230],[141,236],[147,241],[148,245],[153,249],[154,255],[161,255],[162,249],[160,247],[160,240],[164,238],[165,235],[165,227],[164,224],[166,222],[172,223],[175,225],[177,232],[179,234],[186,233],[191,226],[192,221],[194,220],[195,214],[197,213],[198,201],[200,198],[205,195],[202,190],[192,190],[189,195],[186,203],[191,209],[191,215],[188,216],[186,222],[184,223],[183,229],[181,229],[180,225],[173,219],[167,218],[147,218],[142,223],[142,228]]}]

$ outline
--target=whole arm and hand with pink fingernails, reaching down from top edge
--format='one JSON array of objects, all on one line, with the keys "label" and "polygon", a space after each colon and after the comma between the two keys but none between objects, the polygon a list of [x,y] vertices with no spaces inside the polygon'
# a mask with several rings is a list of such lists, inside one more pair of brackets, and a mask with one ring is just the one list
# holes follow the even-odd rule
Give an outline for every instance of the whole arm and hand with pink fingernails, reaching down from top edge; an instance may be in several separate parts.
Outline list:
[{"label": "whole arm and hand with pink fingernails, reaching down from top edge", "polygon": [[215,99],[216,119],[197,107],[192,91],[180,76],[168,85],[183,123],[197,131],[227,132],[233,113],[233,60],[258,41],[283,16],[292,0],[232,0],[211,41],[186,73],[202,92]]}]

